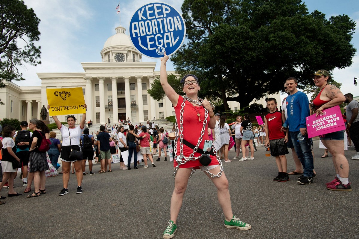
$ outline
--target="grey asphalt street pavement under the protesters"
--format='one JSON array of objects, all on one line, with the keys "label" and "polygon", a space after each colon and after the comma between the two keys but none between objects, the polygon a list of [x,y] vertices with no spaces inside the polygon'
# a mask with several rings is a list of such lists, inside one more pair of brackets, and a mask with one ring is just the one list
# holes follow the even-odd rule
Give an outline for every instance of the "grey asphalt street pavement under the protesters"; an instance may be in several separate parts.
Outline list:
[{"label": "grey asphalt street pavement under the protesters", "polygon": [[[223,163],[233,213],[252,225],[248,231],[224,227],[216,188],[197,170],[189,180],[174,239],[359,238],[359,160],[350,159],[355,150],[345,152],[353,191],[330,191],[325,183],[335,177],[332,158],[321,158],[324,150],[318,145],[314,140],[317,176],[310,185],[299,185],[298,175],[288,182],[272,181],[278,174],[275,159],[265,157],[261,146],[255,160]],[[232,149],[229,158],[234,156]],[[130,171],[112,164],[113,172],[104,174],[97,173],[100,166],[94,164],[95,174],[84,176],[81,194],[75,193],[76,176],[70,175],[69,193],[57,196],[60,174],[47,178],[45,195],[28,199],[17,178],[15,191],[23,195],[9,198],[8,189],[0,192],[6,196],[0,206],[0,238],[162,238],[174,187],[173,163],[163,159],[155,162],[157,167]],[[293,171],[291,153],[287,160],[288,172]]]}]

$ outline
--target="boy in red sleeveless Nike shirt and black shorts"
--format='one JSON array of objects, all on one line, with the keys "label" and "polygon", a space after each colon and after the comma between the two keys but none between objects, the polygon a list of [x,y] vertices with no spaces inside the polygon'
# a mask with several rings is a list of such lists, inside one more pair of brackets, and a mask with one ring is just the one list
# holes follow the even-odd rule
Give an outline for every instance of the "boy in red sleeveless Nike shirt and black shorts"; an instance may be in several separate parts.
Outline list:
[{"label": "boy in red sleeveless Nike shirt and black shorts", "polygon": [[288,141],[288,130],[281,132],[283,126],[282,113],[277,108],[277,100],[269,98],[267,100],[267,107],[269,114],[264,116],[264,127],[266,132],[266,146],[270,146],[270,154],[275,157],[275,162],[278,167],[278,176],[273,178],[273,181],[286,182],[289,180],[287,173],[287,158],[288,148],[286,142]]}]

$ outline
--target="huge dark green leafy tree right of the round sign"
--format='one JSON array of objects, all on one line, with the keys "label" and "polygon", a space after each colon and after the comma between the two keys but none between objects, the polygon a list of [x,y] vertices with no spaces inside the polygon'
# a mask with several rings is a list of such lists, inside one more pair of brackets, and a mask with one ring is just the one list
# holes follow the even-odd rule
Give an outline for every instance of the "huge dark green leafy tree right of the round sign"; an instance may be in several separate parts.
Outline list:
[{"label": "huge dark green leafy tree right of the round sign", "polygon": [[303,89],[311,73],[350,66],[356,52],[352,19],[309,14],[301,0],[185,0],[182,12],[188,42],[171,60],[226,110],[277,93],[290,76]]}]

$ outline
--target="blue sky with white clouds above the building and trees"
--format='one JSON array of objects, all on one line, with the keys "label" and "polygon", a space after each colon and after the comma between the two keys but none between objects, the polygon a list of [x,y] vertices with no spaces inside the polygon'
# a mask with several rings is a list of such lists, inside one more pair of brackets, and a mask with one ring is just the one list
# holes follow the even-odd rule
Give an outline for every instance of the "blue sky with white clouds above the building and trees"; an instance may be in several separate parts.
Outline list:
[{"label": "blue sky with white clouds above the building and trees", "polygon": [[[113,34],[115,28],[121,25],[126,29],[134,12],[139,6],[151,1],[122,0],[121,13],[116,14],[118,0],[24,0],[28,8],[33,8],[37,17],[41,19],[41,32],[38,45],[41,46],[41,62],[38,66],[25,65],[22,67],[25,81],[16,81],[19,86],[40,86],[41,81],[37,72],[83,72],[80,62],[101,62],[100,52],[103,44]],[[162,0],[177,10],[181,10],[181,0]],[[359,1],[358,0],[308,0],[304,1],[309,12],[318,9],[326,14],[346,14],[356,21],[359,28]],[[128,32],[126,32],[129,34]],[[359,48],[358,30],[353,35],[352,43]],[[358,49],[359,51],[359,49]],[[342,92],[351,92],[359,95],[359,86],[353,85],[353,78],[359,77],[359,56],[353,58],[351,67],[335,69],[333,76],[341,82]],[[157,61],[143,57],[142,61]],[[156,70],[159,70],[157,64]],[[173,70],[169,65],[168,70]],[[359,82],[359,79],[358,79]]]}]

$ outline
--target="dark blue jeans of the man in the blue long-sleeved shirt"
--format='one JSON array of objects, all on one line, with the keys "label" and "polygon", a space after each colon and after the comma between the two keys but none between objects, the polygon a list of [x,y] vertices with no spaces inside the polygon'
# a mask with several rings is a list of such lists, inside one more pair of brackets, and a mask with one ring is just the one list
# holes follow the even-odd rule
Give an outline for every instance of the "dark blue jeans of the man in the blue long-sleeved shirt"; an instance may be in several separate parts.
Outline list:
[{"label": "dark blue jeans of the man in the blue long-sleeved shirt", "polygon": [[[304,177],[313,177],[313,155],[312,155],[312,139],[308,139],[308,135],[304,137],[303,140],[298,140],[298,134],[300,131],[290,132],[290,138],[292,138],[292,143],[295,149],[295,153],[303,165]],[[298,142],[299,141],[299,142]]]}]

